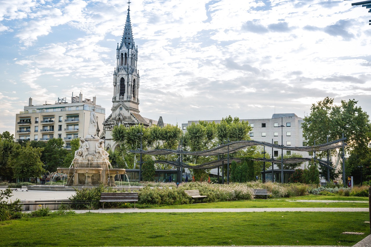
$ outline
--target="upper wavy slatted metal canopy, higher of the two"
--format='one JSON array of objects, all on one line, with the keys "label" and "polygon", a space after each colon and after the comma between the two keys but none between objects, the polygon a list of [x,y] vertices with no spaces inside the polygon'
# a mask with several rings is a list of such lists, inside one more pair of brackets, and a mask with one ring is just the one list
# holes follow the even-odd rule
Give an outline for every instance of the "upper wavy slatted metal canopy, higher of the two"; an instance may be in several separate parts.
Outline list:
[{"label": "upper wavy slatted metal canopy, higher of the two", "polygon": [[[233,153],[239,151],[241,149],[247,148],[249,146],[255,145],[262,145],[262,146],[269,146],[277,149],[284,149],[284,150],[292,150],[292,151],[306,151],[306,152],[318,152],[318,151],[326,151],[335,148],[342,147],[342,141],[345,141],[347,138],[338,139],[336,141],[327,142],[324,144],[318,144],[314,146],[282,146],[278,144],[272,144],[268,142],[260,142],[260,141],[235,141],[229,142],[227,144],[219,145],[216,148],[203,150],[203,151],[184,151],[184,150],[172,150],[172,149],[154,149],[154,150],[130,150],[132,153],[137,154],[150,154],[150,155],[166,155],[166,154],[187,154],[187,155],[197,155],[197,156],[212,156],[212,155],[220,155],[226,154],[227,152]],[[344,143],[344,145],[347,145]]]}]

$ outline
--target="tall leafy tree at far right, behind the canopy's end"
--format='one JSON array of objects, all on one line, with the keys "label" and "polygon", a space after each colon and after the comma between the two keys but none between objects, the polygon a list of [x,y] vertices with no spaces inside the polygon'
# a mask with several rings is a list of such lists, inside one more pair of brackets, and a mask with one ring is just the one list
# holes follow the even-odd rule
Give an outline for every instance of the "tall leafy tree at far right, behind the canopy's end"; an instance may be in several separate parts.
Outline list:
[{"label": "tall leafy tree at far right, behind the canopy's end", "polygon": [[[370,150],[368,145],[371,141],[371,123],[369,115],[357,106],[357,102],[349,99],[342,100],[341,105],[335,105],[334,99],[326,97],[323,101],[312,104],[311,114],[304,118],[302,128],[308,145],[313,145],[314,140],[316,144],[325,143],[327,135],[329,141],[340,139],[344,133],[348,144],[345,152],[350,155],[345,174],[360,177],[358,164],[367,159]],[[326,152],[317,154],[318,157],[326,156]]]}]

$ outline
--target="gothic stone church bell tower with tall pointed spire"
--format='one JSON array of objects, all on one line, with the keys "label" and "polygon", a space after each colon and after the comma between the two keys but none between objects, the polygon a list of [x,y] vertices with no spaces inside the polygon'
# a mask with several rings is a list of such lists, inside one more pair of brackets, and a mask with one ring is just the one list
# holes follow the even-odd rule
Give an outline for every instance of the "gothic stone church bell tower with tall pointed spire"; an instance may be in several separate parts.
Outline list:
[{"label": "gothic stone church bell tower with tall pointed spire", "polygon": [[116,48],[116,67],[113,73],[113,97],[111,115],[103,122],[104,132],[100,138],[105,139],[105,145],[114,149],[112,129],[116,125],[149,123],[139,114],[139,72],[137,69],[138,46],[135,46],[130,22],[130,1],[128,15],[120,45]]}]

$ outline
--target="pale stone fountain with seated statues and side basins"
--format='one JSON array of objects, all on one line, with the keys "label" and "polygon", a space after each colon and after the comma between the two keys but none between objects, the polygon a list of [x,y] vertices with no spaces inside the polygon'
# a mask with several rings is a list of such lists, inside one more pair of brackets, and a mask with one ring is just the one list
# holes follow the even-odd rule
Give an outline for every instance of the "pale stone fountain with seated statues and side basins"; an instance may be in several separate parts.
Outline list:
[{"label": "pale stone fountain with seated statues and side basins", "polygon": [[90,113],[88,134],[80,138],[80,147],[69,168],[57,168],[57,172],[67,174],[66,186],[107,186],[115,185],[115,176],[125,174],[125,169],[114,169],[104,149],[104,140],[98,137],[95,109]]}]

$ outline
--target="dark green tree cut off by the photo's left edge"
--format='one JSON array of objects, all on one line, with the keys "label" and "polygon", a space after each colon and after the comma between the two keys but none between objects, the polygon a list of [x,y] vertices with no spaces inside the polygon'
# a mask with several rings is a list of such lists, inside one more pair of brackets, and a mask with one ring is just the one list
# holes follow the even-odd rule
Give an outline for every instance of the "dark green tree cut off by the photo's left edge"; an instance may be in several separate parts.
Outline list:
[{"label": "dark green tree cut off by the photo's left edge", "polygon": [[10,181],[13,178],[13,168],[9,164],[9,158],[13,153],[15,142],[14,135],[10,135],[9,131],[4,131],[0,134],[0,178],[1,180]]}]

